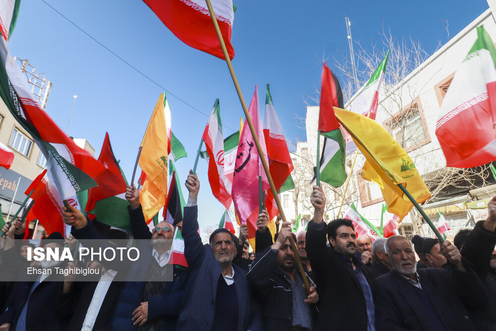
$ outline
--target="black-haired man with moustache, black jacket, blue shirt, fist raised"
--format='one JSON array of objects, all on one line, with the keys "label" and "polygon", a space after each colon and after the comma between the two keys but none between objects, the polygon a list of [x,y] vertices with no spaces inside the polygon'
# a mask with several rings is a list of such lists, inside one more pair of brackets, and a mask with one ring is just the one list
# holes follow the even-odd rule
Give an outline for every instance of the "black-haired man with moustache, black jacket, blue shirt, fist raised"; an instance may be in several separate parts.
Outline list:
[{"label": "black-haired man with moustache, black jacket, blue shirt, fist raised", "polygon": [[[325,196],[313,186],[315,209],[307,230],[306,250],[315,275],[320,314],[315,330],[375,330],[372,274],[359,261],[350,220],[323,222]],[[326,246],[327,240],[331,247]]]}]

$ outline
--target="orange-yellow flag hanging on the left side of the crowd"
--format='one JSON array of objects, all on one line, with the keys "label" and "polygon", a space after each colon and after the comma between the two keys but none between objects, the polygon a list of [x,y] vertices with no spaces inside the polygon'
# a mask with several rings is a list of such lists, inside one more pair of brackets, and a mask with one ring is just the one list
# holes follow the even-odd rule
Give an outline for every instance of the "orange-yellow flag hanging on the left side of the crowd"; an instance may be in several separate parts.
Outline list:
[{"label": "orange-yellow flag hanging on the left side of the crowd", "polygon": [[148,221],[165,205],[167,197],[167,124],[163,94],[160,94],[155,105],[140,146],[139,166],[146,179],[139,202]]}]

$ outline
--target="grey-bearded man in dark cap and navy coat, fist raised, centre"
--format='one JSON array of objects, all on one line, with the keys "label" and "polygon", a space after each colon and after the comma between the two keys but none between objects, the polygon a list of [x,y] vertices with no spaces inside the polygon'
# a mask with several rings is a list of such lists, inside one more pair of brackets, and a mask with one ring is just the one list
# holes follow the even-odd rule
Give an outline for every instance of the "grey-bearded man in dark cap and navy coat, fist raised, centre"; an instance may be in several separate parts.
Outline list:
[{"label": "grey-bearded man in dark cap and navy coat, fist raised, centre", "polygon": [[209,244],[202,245],[196,206],[200,182],[192,171],[186,188],[189,196],[182,234],[191,274],[177,330],[262,330],[246,272],[232,263],[238,238],[227,229],[216,229]]}]

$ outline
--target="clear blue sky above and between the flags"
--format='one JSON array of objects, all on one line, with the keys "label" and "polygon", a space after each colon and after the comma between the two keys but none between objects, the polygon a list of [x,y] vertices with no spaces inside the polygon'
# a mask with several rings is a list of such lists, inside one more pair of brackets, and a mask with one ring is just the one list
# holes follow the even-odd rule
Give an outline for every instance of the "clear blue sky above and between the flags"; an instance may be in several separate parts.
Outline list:
[{"label": "clear blue sky above and between the flags", "polygon": [[[177,39],[140,0],[45,0],[124,61],[209,115],[220,99],[225,134],[239,128],[243,111],[224,61]],[[9,47],[53,83],[47,112],[65,129],[78,94],[68,134],[86,138],[100,151],[109,132],[116,158],[128,179],[137,148],[163,88],[150,81],[73,26],[42,0],[22,0]],[[295,115],[304,116],[304,98],[320,85],[320,60],[348,54],[345,16],[353,39],[381,47],[379,32],[420,40],[430,54],[483,13],[485,0],[439,1],[235,1],[233,60],[247,104],[258,84],[263,116],[265,84],[291,140],[305,140]],[[188,152],[177,162],[186,179],[207,117],[168,94],[172,129]],[[227,127],[227,128],[226,128]],[[211,194],[207,164],[200,160],[200,227],[219,222],[223,207]],[[186,194],[186,190],[184,189]]]}]

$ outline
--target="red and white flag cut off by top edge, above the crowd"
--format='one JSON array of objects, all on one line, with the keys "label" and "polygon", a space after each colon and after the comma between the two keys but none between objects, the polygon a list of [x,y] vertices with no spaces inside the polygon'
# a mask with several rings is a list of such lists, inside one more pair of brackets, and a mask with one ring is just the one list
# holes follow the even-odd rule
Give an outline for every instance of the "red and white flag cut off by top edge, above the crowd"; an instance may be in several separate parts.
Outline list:
[{"label": "red and white flag cut off by top edge, above the crowd", "polygon": [[[204,0],[143,0],[160,20],[186,45],[224,60],[212,17]],[[212,7],[226,44],[234,58],[231,33],[234,20],[232,0],[212,0]]]}]

